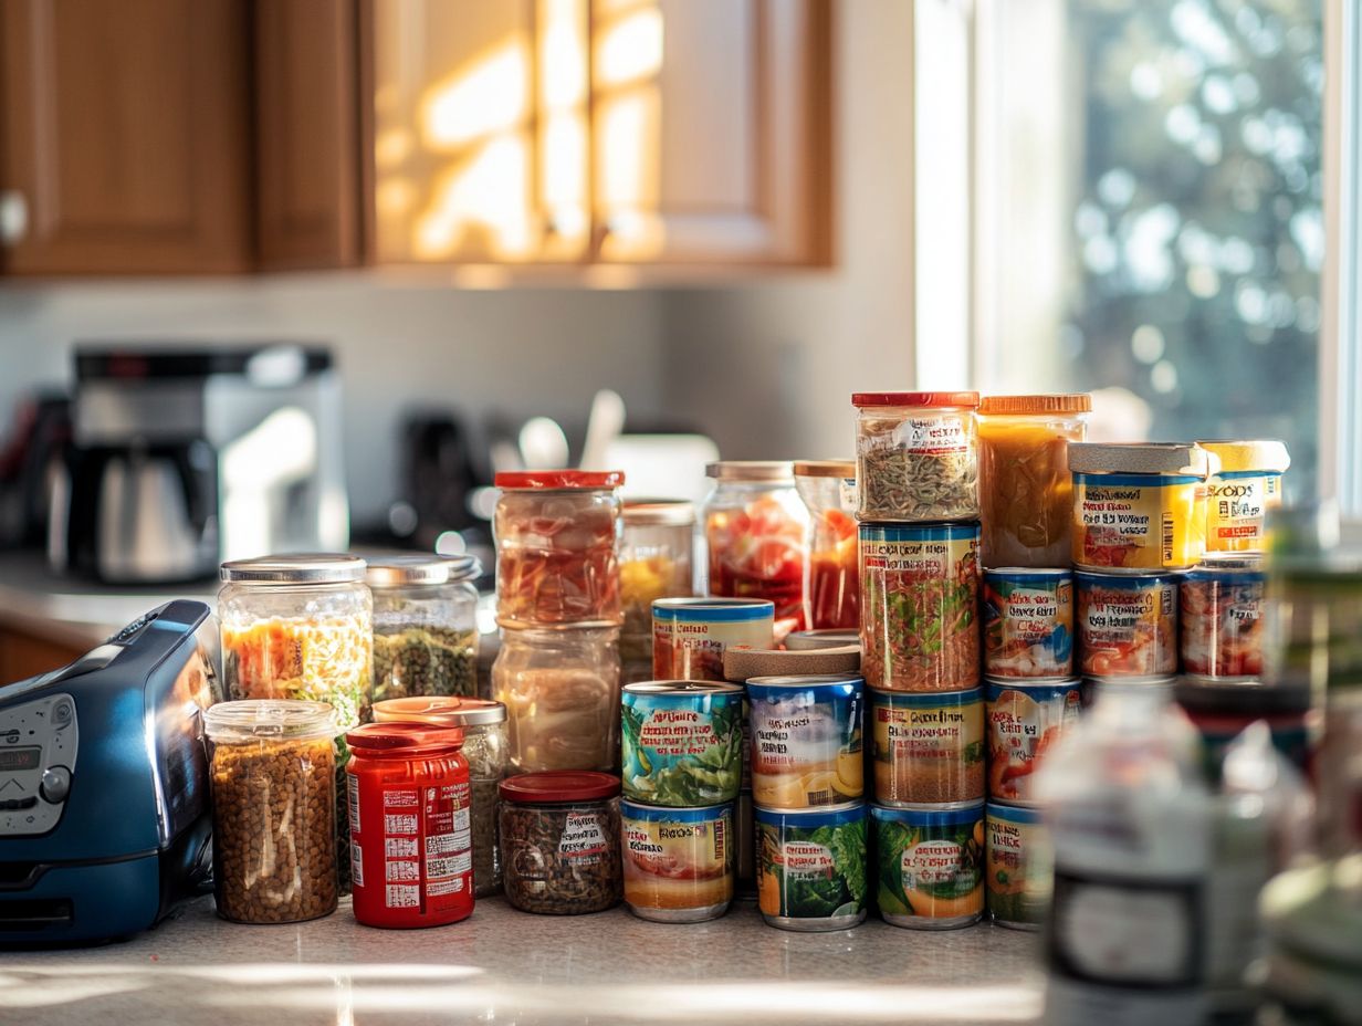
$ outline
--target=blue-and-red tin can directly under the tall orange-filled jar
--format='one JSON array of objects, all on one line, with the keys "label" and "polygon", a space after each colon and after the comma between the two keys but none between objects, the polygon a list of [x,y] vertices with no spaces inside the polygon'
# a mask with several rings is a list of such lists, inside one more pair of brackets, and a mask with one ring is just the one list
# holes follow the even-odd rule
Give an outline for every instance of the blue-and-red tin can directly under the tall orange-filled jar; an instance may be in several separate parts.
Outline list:
[{"label": "blue-and-red tin can directly under the tall orange-filled jar", "polygon": [[983,571],[983,673],[1073,676],[1073,574],[1001,567]]}]

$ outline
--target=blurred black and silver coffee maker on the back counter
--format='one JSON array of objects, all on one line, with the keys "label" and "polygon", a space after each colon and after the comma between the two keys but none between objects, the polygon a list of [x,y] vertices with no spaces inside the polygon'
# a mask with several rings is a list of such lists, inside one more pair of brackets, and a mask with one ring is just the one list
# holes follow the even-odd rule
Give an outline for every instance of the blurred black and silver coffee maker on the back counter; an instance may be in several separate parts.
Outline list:
[{"label": "blurred black and silver coffee maker on the back counter", "polygon": [[80,345],[48,557],[108,583],[211,576],[227,559],[345,549],[340,390],[297,345]]}]

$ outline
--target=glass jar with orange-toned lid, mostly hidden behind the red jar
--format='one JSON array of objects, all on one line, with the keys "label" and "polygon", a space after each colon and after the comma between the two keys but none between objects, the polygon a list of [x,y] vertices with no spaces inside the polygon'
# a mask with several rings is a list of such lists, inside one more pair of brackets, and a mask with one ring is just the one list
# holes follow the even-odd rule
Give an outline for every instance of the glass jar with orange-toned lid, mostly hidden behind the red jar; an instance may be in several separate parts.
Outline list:
[{"label": "glass jar with orange-toned lid, mostly hidden behind the red jar", "polygon": [[477,698],[395,698],[377,702],[379,724],[429,724],[463,730],[463,758],[473,785],[473,880],[479,898],[501,890],[497,849],[497,785],[505,777],[511,751],[507,707]]}]

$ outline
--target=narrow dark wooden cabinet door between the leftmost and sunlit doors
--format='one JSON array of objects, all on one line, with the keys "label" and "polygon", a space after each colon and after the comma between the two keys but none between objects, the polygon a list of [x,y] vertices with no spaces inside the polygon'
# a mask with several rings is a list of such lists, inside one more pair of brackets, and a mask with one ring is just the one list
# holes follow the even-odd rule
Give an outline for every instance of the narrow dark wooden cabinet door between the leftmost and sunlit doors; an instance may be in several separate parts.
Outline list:
[{"label": "narrow dark wooden cabinet door between the leftmost and sunlit doors", "polygon": [[358,0],[256,0],[256,185],[264,270],[360,262]]}]

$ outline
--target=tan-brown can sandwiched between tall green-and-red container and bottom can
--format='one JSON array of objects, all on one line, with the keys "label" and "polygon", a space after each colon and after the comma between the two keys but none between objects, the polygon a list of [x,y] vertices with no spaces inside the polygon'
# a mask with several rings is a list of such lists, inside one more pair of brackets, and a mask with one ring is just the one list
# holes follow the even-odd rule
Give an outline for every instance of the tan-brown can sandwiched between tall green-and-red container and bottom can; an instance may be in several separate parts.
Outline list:
[{"label": "tan-brown can sandwiched between tall green-and-red container and bottom can", "polygon": [[874,800],[940,805],[983,797],[983,688],[870,692]]}]

